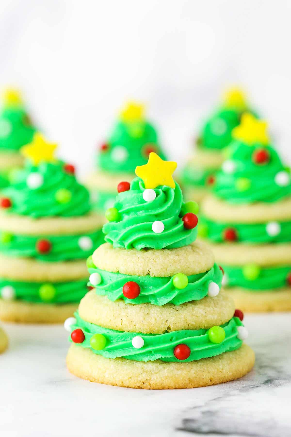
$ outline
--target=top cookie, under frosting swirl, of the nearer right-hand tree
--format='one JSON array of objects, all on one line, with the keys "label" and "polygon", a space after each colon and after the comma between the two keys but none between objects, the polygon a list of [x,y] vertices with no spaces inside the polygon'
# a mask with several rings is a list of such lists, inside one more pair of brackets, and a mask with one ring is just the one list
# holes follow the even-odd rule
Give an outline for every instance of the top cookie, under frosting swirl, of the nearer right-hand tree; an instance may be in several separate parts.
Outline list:
[{"label": "top cookie, under frosting swirl, of the nearer right-hand tree", "polygon": [[232,205],[209,195],[202,202],[201,213],[210,220],[223,223],[287,222],[291,220],[291,197],[270,203]]}]

